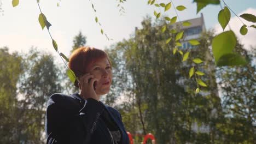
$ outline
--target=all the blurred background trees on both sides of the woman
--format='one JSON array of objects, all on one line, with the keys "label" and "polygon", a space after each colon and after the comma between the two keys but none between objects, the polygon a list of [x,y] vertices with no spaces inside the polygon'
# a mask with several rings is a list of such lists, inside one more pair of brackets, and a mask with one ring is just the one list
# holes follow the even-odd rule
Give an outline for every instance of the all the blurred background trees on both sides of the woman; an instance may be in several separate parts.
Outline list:
[{"label": "all the blurred background trees on both sides of the woman", "polygon": [[[101,100],[121,113],[134,142],[152,133],[156,143],[255,143],[256,47],[248,51],[238,42],[236,51],[249,63],[216,67],[210,50],[214,29],[200,31],[200,45],[180,47],[203,60],[193,65],[173,55],[176,34],[161,33],[162,25],[146,17],[129,39],[105,49],[113,83]],[[86,37],[79,32],[70,51],[84,45]],[[199,94],[194,77],[189,79],[191,65],[205,73],[207,87]],[[0,67],[0,143],[45,143],[46,101],[56,92],[78,92],[64,64],[36,47],[10,53],[5,46]]]}]

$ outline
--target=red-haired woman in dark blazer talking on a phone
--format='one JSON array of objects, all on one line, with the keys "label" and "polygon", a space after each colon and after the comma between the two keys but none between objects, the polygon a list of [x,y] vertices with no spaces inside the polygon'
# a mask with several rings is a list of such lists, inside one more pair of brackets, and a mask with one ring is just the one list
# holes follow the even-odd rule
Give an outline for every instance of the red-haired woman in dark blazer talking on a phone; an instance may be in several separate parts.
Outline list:
[{"label": "red-haired woman in dark blazer talking on a phone", "polygon": [[80,92],[51,95],[46,110],[47,143],[129,143],[120,113],[104,105],[112,82],[107,54],[92,47],[75,50],[68,63]]}]

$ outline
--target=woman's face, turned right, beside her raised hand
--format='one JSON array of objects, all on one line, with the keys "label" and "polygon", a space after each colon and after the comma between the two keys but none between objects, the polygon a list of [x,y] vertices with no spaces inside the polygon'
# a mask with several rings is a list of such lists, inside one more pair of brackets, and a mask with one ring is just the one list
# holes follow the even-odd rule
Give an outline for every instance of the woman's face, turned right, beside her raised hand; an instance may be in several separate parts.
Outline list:
[{"label": "woman's face, turned right, beside her raised hand", "polygon": [[107,58],[98,59],[89,65],[88,73],[98,79],[95,92],[97,95],[107,94],[112,83],[112,69]]}]

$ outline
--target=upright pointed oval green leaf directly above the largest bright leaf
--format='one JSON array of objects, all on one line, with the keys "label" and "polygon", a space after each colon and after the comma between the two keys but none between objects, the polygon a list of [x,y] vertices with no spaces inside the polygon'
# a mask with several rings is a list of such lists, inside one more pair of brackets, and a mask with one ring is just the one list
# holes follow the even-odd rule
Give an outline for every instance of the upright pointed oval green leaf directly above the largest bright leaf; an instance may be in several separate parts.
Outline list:
[{"label": "upright pointed oval green leaf directly above the largest bright leaf", "polygon": [[231,16],[231,14],[230,14],[228,7],[224,7],[224,9],[219,11],[218,21],[219,21],[219,24],[222,26],[223,31],[224,31],[226,25],[228,25],[228,23],[229,23],[230,16]]}]

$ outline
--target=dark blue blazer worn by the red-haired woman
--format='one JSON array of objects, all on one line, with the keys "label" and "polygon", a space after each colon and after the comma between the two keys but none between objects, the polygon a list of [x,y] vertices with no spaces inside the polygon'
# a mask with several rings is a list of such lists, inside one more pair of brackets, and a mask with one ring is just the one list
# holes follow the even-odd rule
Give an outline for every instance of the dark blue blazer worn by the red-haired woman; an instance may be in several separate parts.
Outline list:
[{"label": "dark blue blazer worn by the red-haired woman", "polygon": [[51,95],[47,103],[45,131],[47,143],[112,143],[109,130],[101,118],[109,112],[121,132],[120,143],[130,143],[120,113],[95,99],[82,99],[78,93]]}]

